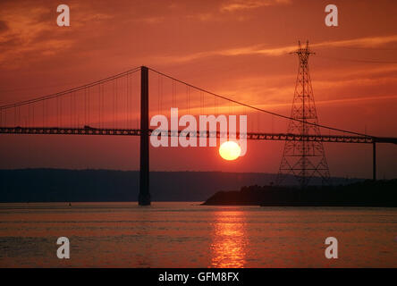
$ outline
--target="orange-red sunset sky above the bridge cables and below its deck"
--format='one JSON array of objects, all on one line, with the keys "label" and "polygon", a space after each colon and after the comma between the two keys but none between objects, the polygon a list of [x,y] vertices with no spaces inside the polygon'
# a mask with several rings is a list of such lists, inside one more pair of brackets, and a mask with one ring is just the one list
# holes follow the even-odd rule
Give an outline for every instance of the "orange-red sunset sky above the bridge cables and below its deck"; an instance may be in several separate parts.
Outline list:
[{"label": "orange-red sunset sky above the bridge cables and below its deck", "polygon": [[[289,115],[298,61],[288,52],[308,39],[317,53],[309,66],[319,122],[397,137],[397,3],[332,3],[337,28],[325,26],[327,1],[67,1],[71,27],[60,28],[61,3],[2,1],[0,105],[145,64]],[[0,167],[136,170],[138,142],[2,135]],[[231,163],[214,148],[151,148],[151,167],[277,172],[282,150],[279,142],[249,142],[247,155]],[[371,176],[371,147],[325,144],[325,151],[332,175]],[[378,176],[396,177],[396,159],[397,147],[379,146]]]}]

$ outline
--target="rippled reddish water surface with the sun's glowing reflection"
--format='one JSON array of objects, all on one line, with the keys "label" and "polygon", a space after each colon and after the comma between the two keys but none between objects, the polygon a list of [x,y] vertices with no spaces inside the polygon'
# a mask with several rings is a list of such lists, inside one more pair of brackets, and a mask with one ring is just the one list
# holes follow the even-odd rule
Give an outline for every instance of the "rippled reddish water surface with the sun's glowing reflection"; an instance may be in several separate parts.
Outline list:
[{"label": "rippled reddish water surface with the sun's glowing reflection", "polygon": [[[70,259],[56,257],[61,236]],[[0,204],[0,267],[17,266],[397,267],[397,209]]]}]

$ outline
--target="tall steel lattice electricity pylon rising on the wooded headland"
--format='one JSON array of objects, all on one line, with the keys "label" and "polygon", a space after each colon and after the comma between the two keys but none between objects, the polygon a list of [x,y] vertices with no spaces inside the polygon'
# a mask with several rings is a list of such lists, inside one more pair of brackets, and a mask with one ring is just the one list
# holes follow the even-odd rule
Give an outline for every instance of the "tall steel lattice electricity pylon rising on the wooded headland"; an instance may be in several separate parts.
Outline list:
[{"label": "tall steel lattice electricity pylon rising on the wooded headland", "polygon": [[[306,46],[299,46],[291,53],[299,57],[299,70],[293,95],[291,118],[288,133],[302,135],[320,135],[317,125],[318,118],[308,72],[308,57],[314,54]],[[321,179],[322,184],[329,184],[329,169],[325,159],[325,150],[322,142],[308,141],[302,137],[296,141],[285,141],[283,158],[277,175],[276,184],[283,184],[286,175],[293,175],[302,189],[306,188],[314,177]]]}]

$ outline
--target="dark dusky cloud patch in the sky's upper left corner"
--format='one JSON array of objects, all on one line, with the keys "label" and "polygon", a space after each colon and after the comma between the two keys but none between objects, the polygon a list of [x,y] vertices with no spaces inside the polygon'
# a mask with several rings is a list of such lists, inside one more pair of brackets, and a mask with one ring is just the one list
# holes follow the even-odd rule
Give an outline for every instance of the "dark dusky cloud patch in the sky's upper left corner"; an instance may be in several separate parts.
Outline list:
[{"label": "dark dusky cloud patch in the sky's upper left corner", "polygon": [[[84,29],[87,23],[111,19],[106,13],[82,13],[79,3],[72,3],[73,19],[68,29]],[[55,24],[55,9],[49,6],[7,4],[0,11],[0,63],[7,68],[37,61],[41,56],[56,55],[75,45],[77,39],[65,37],[69,30]]]}]

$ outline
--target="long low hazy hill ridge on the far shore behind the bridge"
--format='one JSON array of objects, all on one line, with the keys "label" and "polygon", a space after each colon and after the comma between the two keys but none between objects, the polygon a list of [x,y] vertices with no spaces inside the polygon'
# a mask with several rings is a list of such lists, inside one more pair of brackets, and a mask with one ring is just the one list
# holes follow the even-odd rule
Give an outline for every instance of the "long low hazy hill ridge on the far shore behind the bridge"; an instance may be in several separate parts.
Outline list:
[{"label": "long low hazy hill ridge on the far shore behind the bridge", "polygon": [[[218,190],[274,180],[275,174],[258,172],[150,172],[150,192],[153,201],[204,201]],[[334,178],[352,181],[359,180]],[[0,170],[0,202],[136,201],[138,192],[138,171]]]}]

